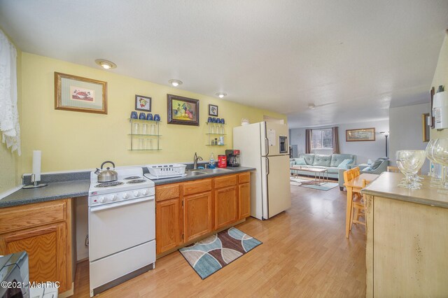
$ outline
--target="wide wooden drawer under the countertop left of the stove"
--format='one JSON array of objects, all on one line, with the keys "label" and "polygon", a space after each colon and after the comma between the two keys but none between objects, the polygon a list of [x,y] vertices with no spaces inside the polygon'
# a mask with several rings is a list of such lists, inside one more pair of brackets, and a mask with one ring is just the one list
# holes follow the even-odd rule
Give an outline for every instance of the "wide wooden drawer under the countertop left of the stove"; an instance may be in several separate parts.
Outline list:
[{"label": "wide wooden drawer under the countertop left of the stove", "polygon": [[0,234],[65,220],[67,200],[0,208]]}]

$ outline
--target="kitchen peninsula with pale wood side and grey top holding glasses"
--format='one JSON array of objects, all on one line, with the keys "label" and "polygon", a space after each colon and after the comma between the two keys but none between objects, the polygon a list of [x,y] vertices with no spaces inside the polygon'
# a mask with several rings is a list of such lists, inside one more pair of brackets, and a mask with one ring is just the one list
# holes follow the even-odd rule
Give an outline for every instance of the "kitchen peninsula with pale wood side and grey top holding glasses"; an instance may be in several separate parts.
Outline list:
[{"label": "kitchen peninsula with pale wood side and grey top holding glasses", "polygon": [[381,173],[366,199],[366,297],[445,297],[448,293],[448,195],[398,187],[404,176]]}]

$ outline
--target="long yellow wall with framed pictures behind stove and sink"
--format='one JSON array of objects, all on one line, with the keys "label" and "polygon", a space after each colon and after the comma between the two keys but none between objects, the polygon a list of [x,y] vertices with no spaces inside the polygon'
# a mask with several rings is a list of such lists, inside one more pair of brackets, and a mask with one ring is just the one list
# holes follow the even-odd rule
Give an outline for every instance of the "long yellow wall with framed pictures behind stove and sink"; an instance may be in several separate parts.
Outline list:
[{"label": "long yellow wall with framed pictures behind stove and sink", "polygon": [[[55,110],[55,71],[106,81],[108,114]],[[167,93],[200,100],[200,127],[167,125]],[[160,151],[128,150],[128,118],[134,111],[135,94],[152,97],[152,113],[162,118]],[[22,173],[31,171],[33,150],[42,150],[42,171],[91,169],[105,160],[116,162],[116,166],[190,162],[195,152],[204,160],[211,152],[216,158],[225,148],[205,146],[208,104],[218,105],[218,117],[228,123],[226,148],[232,148],[232,127],[239,126],[241,118],[260,122],[263,115],[269,115],[286,121],[286,116],[278,113],[27,52],[22,53],[22,97]]]}]

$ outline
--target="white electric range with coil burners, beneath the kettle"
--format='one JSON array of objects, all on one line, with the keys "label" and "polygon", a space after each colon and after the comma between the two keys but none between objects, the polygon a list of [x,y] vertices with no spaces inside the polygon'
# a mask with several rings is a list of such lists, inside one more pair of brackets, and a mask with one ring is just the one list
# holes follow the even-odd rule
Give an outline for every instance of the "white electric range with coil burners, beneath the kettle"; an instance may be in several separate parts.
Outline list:
[{"label": "white electric range with coil burners, beneath the kettle", "polygon": [[155,186],[139,167],[90,173],[90,297],[155,268]]}]

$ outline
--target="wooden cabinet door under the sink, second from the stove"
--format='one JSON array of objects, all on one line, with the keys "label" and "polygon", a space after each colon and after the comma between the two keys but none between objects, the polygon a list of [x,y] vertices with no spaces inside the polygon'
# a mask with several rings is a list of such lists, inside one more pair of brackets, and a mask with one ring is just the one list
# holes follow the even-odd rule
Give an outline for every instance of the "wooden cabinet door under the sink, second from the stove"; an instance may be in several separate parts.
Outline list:
[{"label": "wooden cabinet door under the sink, second from the stove", "polygon": [[186,242],[212,231],[211,192],[183,197],[183,232]]}]

